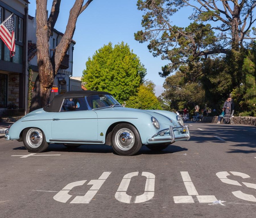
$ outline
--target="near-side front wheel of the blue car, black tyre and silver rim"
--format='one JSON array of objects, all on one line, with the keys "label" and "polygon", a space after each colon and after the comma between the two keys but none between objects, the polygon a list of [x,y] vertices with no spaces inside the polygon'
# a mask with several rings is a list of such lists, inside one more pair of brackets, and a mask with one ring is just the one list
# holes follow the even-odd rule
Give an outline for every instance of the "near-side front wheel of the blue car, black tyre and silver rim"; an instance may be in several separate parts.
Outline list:
[{"label": "near-side front wheel of the blue car, black tyre and silver rim", "polygon": [[142,146],[138,130],[127,123],[120,123],[115,126],[111,144],[115,153],[123,156],[136,154]]}]

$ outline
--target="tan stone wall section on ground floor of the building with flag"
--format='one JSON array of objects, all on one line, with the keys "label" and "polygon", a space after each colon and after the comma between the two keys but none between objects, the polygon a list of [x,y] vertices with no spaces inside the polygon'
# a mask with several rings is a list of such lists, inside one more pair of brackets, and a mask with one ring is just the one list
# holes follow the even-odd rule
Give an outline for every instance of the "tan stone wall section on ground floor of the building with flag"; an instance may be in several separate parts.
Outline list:
[{"label": "tan stone wall section on ground floor of the building with flag", "polygon": [[8,103],[14,103],[19,105],[19,74],[18,73],[9,73],[8,81]]}]

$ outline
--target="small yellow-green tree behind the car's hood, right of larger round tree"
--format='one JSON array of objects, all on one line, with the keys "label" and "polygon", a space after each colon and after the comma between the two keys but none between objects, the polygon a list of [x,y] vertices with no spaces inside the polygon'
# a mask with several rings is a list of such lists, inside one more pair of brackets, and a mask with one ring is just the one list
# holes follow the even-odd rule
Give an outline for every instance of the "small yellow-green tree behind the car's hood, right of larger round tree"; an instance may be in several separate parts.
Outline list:
[{"label": "small yellow-green tree behind the car's hood, right of larger round tree", "polygon": [[131,96],[126,102],[126,107],[144,110],[161,110],[160,101],[154,93],[155,86],[152,81],[141,84],[137,95]]}]

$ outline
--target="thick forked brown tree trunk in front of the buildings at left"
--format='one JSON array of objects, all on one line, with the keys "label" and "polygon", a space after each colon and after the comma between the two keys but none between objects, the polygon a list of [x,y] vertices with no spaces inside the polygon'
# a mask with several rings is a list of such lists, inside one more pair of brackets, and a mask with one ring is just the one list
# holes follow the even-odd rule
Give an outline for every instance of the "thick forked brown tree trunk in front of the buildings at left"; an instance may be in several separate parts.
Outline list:
[{"label": "thick forked brown tree trunk in front of the buildings at left", "polygon": [[36,47],[38,76],[32,93],[30,111],[42,108],[49,103],[53,80],[57,74],[61,61],[72,41],[77,17],[84,11],[93,0],[76,0],[69,13],[69,20],[66,31],[61,38],[59,45],[55,48],[52,57],[49,54],[49,37],[53,31],[55,22],[59,15],[61,0],[54,0],[51,14],[47,20],[47,0],[36,0]]}]

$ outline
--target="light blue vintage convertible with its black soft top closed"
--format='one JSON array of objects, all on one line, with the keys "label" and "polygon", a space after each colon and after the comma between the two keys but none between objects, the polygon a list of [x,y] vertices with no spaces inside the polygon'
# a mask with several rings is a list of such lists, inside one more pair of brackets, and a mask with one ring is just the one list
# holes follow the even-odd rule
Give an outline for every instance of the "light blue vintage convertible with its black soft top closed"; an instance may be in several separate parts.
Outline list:
[{"label": "light blue vintage convertible with its black soft top closed", "polygon": [[23,141],[34,153],[45,151],[49,143],[106,144],[129,156],[142,145],[160,151],[189,138],[189,128],[175,113],[122,107],[110,93],[96,91],[56,95],[49,105],[28,113],[5,132],[5,139]]}]

